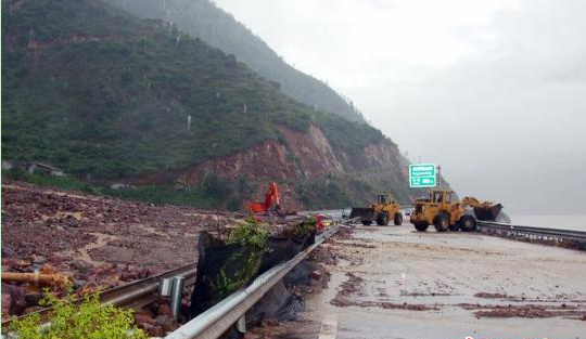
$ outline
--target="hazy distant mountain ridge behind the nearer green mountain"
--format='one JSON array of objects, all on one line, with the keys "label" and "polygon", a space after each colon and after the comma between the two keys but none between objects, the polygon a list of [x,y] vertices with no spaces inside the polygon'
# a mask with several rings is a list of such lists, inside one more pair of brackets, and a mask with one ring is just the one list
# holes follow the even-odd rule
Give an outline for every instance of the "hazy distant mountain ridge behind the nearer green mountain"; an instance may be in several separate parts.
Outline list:
[{"label": "hazy distant mountain ridge behind the nearer green mountain", "polygon": [[352,121],[365,122],[351,102],[315,79],[288,65],[270,47],[234,17],[208,0],[109,0],[142,18],[173,22],[226,53],[233,54],[285,94]]}]

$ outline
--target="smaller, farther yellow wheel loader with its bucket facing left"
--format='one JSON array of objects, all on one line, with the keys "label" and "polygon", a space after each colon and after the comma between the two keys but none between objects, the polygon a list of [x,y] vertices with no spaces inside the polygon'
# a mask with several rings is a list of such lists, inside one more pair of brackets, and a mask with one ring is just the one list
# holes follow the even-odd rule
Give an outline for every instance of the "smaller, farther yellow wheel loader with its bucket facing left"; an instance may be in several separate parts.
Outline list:
[{"label": "smaller, farther yellow wheel loader with its bucket facing left", "polygon": [[367,226],[372,224],[372,221],[375,221],[379,226],[386,226],[391,219],[397,226],[403,223],[400,205],[392,200],[390,194],[378,194],[377,203],[371,204],[370,207],[353,207],[349,219],[358,217]]}]

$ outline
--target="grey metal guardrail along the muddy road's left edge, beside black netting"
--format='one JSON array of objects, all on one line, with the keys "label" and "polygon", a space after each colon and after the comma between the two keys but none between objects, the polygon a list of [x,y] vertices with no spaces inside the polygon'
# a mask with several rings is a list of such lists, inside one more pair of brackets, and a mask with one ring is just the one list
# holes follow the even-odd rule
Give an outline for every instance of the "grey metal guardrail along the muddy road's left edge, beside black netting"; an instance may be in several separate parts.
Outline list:
[{"label": "grey metal guardrail along the muddy road's left edge, beside black netting", "polygon": [[258,276],[249,287],[224,299],[209,310],[194,317],[165,339],[216,339],[238,322],[246,311],[269,291],[286,273],[304,260],[321,243],[337,232],[333,227],[316,237],[316,243],[297,253],[288,262],[282,262]]}]

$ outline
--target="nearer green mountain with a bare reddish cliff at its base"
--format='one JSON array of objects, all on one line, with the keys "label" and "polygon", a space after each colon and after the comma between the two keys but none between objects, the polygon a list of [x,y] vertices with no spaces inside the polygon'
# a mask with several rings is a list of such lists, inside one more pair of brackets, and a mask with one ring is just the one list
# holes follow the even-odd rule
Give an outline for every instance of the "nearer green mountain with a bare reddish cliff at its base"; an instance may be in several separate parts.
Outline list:
[{"label": "nearer green mountain with a bare reddish cliff at its base", "polygon": [[48,162],[102,193],[237,209],[278,181],[292,209],[410,198],[379,130],[102,1],[3,0],[1,86],[2,160]]}]

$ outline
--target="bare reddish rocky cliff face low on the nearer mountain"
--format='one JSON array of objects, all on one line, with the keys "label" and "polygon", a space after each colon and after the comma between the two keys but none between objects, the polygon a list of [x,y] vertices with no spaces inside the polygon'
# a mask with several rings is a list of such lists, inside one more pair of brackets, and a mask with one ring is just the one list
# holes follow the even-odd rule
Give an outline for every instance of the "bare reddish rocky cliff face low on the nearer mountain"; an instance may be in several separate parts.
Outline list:
[{"label": "bare reddish rocky cliff face low on the nearer mountain", "polygon": [[255,196],[260,198],[267,183],[277,181],[281,187],[283,206],[291,210],[304,208],[303,198],[296,188],[306,181],[328,185],[351,180],[353,185],[342,186],[348,191],[348,203],[352,204],[366,204],[377,192],[391,192],[402,201],[410,199],[407,162],[394,144],[370,144],[362,152],[347,154],[333,149],[327,136],[315,125],[306,133],[283,126],[279,126],[279,130],[283,136],[279,141],[266,141],[243,152],[196,166],[135,178],[129,183],[196,186],[206,177],[215,175],[230,181],[254,182]]}]

